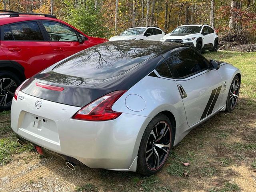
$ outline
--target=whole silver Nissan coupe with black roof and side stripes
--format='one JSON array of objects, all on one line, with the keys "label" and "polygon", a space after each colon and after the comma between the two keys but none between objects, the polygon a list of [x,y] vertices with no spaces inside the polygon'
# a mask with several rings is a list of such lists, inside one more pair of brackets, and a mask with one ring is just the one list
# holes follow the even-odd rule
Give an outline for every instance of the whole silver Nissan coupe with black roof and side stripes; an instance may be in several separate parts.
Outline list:
[{"label": "whole silver Nissan coupe with black roof and side stripes", "polygon": [[198,124],[238,101],[240,70],[170,42],[114,41],[62,60],[18,87],[21,144],[66,164],[158,172]]}]

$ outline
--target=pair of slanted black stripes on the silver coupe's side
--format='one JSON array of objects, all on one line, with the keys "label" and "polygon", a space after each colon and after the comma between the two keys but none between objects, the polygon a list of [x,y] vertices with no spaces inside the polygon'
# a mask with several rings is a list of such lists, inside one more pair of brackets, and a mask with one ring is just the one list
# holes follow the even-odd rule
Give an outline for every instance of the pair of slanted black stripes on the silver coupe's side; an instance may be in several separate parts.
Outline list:
[{"label": "pair of slanted black stripes on the silver coupe's side", "polygon": [[205,118],[207,115],[211,114],[212,113],[212,110],[216,104],[216,101],[218,99],[218,96],[220,94],[220,90],[221,90],[221,87],[222,86],[219,86],[218,88],[212,90],[212,93],[211,93],[211,96],[206,104],[206,107],[204,109],[204,112],[201,116],[201,119],[202,120],[203,118]]}]

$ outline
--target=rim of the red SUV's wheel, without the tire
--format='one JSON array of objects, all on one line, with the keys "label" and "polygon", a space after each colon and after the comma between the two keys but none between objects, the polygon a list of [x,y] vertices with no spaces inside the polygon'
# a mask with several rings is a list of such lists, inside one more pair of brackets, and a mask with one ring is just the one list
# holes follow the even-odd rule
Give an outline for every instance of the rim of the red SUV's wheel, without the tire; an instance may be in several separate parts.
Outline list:
[{"label": "rim of the red SUV's wheel, without the tire", "polygon": [[12,103],[17,84],[10,78],[0,79],[0,106],[8,106]]}]

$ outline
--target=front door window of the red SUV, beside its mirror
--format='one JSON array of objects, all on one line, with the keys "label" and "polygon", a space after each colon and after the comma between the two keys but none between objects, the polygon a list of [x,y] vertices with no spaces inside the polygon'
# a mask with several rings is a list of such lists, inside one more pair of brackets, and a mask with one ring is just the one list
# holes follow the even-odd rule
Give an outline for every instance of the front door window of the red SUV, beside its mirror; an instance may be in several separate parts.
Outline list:
[{"label": "front door window of the red SUV, beside its mirror", "polygon": [[64,24],[52,21],[42,21],[52,41],[78,41],[77,32]]}]

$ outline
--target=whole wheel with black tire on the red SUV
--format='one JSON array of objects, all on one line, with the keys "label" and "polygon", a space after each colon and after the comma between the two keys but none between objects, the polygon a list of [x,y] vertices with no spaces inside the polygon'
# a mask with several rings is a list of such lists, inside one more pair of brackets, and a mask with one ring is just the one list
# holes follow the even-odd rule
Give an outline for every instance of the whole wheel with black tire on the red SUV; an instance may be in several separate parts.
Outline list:
[{"label": "whole wheel with black tire on the red SUV", "polygon": [[20,79],[14,73],[0,72],[0,111],[11,108],[14,92],[20,83]]}]

